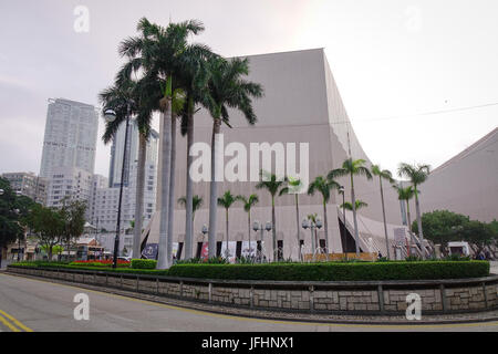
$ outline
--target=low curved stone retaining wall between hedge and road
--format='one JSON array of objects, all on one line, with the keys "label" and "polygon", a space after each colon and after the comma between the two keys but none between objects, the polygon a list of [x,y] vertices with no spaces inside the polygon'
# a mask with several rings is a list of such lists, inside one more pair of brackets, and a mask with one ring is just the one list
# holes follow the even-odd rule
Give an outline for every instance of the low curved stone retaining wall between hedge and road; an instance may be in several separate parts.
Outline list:
[{"label": "low curved stone retaining wall between hedge and road", "polygon": [[498,309],[498,277],[432,281],[222,281],[72,269],[8,267],[8,271],[222,305],[282,311],[400,314],[416,293],[423,313]]}]

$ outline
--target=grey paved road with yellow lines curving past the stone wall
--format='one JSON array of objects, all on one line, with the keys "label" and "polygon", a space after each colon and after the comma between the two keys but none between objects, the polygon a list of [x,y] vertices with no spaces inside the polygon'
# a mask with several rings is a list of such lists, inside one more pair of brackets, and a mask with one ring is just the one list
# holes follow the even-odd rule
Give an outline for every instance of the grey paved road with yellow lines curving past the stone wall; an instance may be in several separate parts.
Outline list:
[{"label": "grey paved road with yellow lines curving past the stone wall", "polygon": [[[74,320],[74,295],[90,299],[90,320]],[[0,331],[365,332],[492,331],[498,322],[445,325],[351,325],[257,320],[212,314],[72,285],[0,273]]]}]

